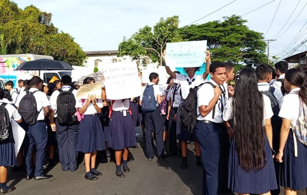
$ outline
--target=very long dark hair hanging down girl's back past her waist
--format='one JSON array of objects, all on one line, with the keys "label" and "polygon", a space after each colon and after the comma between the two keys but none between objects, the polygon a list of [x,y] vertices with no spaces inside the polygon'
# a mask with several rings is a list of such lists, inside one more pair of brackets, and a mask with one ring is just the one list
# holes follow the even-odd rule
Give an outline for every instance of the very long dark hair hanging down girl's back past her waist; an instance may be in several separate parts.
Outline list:
[{"label": "very long dark hair hanging down girl's back past her waist", "polygon": [[234,138],[239,164],[246,171],[264,168],[265,131],[263,128],[264,101],[257,87],[256,73],[251,68],[240,71],[232,101]]}]

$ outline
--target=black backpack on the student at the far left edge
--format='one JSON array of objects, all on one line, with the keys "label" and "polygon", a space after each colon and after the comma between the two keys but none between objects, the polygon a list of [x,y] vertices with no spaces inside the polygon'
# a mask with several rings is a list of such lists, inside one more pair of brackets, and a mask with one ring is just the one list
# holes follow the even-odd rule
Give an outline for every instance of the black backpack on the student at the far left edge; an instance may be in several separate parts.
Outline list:
[{"label": "black backpack on the student at the far left edge", "polygon": [[6,103],[0,105],[0,143],[7,143],[13,138],[10,116],[5,108]]}]

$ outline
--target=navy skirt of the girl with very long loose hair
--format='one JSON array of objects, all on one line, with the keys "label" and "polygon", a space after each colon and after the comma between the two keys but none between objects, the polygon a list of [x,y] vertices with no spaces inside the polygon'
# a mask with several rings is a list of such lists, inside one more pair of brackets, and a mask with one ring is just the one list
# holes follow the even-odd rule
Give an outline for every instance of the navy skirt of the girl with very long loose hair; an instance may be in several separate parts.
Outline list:
[{"label": "navy skirt of the girl with very long loose hair", "polygon": [[264,194],[277,189],[274,163],[269,140],[265,136],[265,152],[267,164],[260,171],[247,172],[239,165],[239,158],[234,141],[231,143],[229,155],[228,187],[240,194]]}]

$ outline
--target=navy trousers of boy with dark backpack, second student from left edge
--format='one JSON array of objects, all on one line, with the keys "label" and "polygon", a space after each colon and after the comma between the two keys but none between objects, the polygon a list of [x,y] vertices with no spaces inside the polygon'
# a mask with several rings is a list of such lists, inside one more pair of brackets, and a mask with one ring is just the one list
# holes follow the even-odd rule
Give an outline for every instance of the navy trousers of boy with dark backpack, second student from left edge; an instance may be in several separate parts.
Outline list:
[{"label": "navy trousers of boy with dark backpack, second student from left edge", "polygon": [[34,176],[41,176],[42,163],[48,140],[47,125],[45,122],[37,122],[35,125],[28,126],[25,130],[24,155],[27,169],[26,176],[32,174],[32,152],[34,147],[37,150]]}]

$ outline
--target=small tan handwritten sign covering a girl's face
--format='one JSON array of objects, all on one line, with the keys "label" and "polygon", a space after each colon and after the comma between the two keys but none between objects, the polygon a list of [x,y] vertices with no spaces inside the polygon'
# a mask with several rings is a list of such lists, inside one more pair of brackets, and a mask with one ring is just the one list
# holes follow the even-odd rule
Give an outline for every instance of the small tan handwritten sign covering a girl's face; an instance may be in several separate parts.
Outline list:
[{"label": "small tan handwritten sign covering a girl's face", "polygon": [[89,95],[93,95],[96,97],[96,99],[101,99],[101,92],[100,82],[84,84],[80,86],[77,93],[77,98],[87,99]]}]

